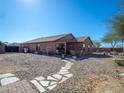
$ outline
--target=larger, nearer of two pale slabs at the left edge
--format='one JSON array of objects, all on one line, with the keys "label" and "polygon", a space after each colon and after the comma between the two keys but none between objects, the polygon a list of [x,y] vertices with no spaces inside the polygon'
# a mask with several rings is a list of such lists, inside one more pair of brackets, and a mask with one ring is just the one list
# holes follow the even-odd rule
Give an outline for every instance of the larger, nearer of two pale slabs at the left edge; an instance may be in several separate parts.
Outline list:
[{"label": "larger, nearer of two pale slabs at the left edge", "polygon": [[1,79],[1,85],[7,85],[7,84],[11,84],[11,83],[15,83],[19,81],[19,79],[17,77],[9,77],[9,78],[3,78]]}]

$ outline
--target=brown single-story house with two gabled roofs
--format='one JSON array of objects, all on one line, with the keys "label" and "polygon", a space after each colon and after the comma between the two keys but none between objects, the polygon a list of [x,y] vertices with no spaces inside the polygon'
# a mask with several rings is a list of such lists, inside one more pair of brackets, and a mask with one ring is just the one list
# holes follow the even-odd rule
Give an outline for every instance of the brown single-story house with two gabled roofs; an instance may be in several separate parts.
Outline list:
[{"label": "brown single-story house with two gabled roofs", "polygon": [[29,52],[55,54],[59,50],[65,54],[87,54],[92,52],[93,43],[90,37],[75,38],[71,33],[42,37],[21,44],[20,51],[27,48]]}]

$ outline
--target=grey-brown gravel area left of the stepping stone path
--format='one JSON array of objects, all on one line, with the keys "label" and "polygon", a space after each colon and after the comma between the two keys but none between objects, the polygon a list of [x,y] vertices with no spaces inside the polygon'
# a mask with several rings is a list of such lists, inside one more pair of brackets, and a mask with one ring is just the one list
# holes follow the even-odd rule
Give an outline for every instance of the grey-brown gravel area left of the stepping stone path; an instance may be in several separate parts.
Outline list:
[{"label": "grey-brown gravel area left of the stepping stone path", "polygon": [[27,68],[14,72],[20,79],[27,80],[34,79],[37,76],[46,77],[56,73],[64,65],[60,58],[36,54],[8,53],[1,54],[0,59],[2,63],[8,62],[15,66]]}]

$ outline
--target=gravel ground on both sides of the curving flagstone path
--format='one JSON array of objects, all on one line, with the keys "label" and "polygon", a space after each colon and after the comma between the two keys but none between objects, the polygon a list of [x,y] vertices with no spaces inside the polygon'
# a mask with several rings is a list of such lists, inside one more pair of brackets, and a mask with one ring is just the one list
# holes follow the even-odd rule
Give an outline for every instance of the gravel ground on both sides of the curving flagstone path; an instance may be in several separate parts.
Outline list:
[{"label": "gravel ground on both sides of the curving flagstone path", "polygon": [[[64,65],[64,62],[59,58],[35,54],[2,54],[0,59],[3,60],[0,62],[13,63],[22,68],[28,68],[15,71],[18,77],[28,80],[40,75],[45,77],[52,75]],[[118,69],[120,67],[107,56],[84,56],[82,60],[74,62],[70,70],[74,76],[59,84],[49,93],[94,93],[93,87],[101,81],[108,80],[110,77],[118,79]],[[121,70],[124,69],[121,68]]]}]

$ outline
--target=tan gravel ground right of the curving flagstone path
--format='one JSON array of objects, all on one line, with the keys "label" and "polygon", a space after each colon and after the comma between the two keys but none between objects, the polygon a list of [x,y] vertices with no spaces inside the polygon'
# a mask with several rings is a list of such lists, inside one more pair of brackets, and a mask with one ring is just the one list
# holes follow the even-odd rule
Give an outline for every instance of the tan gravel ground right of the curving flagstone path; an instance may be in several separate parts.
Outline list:
[{"label": "tan gravel ground right of the curving flagstone path", "polygon": [[[87,57],[88,58],[88,57]],[[110,76],[118,77],[118,65],[112,58],[88,58],[74,62],[71,72],[74,77],[58,86],[50,93],[93,93],[94,83]]]}]

